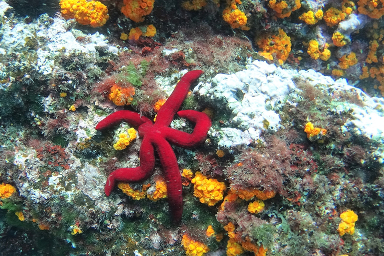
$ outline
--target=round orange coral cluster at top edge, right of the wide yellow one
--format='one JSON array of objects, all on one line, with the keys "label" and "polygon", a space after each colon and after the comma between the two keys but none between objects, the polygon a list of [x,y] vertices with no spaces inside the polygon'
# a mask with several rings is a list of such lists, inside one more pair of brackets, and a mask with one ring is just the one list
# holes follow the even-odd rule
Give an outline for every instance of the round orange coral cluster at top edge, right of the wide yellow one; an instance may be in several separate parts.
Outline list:
[{"label": "round orange coral cluster at top edge, right of the wide yellow one", "polygon": [[124,0],[121,12],[134,22],[141,22],[152,11],[153,2],[154,0]]}]

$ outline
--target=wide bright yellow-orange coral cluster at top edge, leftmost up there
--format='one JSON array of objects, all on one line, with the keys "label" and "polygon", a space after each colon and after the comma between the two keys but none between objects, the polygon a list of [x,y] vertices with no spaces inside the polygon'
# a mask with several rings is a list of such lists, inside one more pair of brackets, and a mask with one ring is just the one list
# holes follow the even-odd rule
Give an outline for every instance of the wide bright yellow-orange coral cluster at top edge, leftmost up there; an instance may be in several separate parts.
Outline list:
[{"label": "wide bright yellow-orange coral cluster at top edge, leftmost up there", "polygon": [[61,15],[74,18],[82,25],[102,26],[108,20],[108,9],[99,1],[60,0]]}]

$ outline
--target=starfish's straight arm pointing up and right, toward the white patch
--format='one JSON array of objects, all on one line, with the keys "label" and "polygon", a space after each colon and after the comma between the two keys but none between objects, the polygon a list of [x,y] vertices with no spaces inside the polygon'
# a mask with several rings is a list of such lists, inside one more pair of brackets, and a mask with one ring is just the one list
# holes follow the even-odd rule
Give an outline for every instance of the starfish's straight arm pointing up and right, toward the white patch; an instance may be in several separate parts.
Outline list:
[{"label": "starfish's straight arm pointing up and right, toward the white patch", "polygon": [[190,84],[195,81],[201,73],[202,70],[192,70],[181,77],[168,99],[161,106],[160,110],[158,110],[155,125],[169,126],[173,115],[180,108],[182,101],[184,101],[188,94]]}]

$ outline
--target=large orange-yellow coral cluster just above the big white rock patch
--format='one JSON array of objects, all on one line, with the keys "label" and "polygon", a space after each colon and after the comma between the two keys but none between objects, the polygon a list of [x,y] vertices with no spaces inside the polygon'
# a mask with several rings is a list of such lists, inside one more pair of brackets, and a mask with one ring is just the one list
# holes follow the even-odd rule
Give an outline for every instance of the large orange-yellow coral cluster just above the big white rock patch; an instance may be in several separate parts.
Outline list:
[{"label": "large orange-yellow coral cluster just above the big white rock patch", "polygon": [[280,64],[288,57],[292,45],[290,37],[281,28],[278,28],[277,35],[261,36],[256,43],[262,49],[262,52],[258,52],[259,55],[269,60],[278,60]]}]

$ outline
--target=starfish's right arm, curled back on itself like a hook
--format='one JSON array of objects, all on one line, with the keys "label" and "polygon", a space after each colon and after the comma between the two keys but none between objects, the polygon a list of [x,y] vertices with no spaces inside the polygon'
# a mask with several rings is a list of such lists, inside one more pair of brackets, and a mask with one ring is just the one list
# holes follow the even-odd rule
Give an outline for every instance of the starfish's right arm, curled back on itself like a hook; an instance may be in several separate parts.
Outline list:
[{"label": "starfish's right arm, curled back on itself like a hook", "polygon": [[181,110],[177,114],[195,123],[192,133],[164,127],[164,137],[171,144],[180,147],[192,147],[206,139],[206,133],[211,125],[210,118],[206,113],[195,110]]}]

